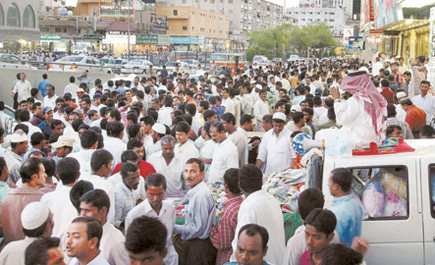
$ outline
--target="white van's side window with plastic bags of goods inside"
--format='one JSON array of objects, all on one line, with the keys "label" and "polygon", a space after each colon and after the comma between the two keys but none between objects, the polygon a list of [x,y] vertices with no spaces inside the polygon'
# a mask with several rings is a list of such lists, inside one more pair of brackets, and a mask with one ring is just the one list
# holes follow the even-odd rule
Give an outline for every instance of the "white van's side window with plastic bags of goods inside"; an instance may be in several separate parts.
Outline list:
[{"label": "white van's side window with plastic bags of goods inside", "polygon": [[382,166],[350,170],[354,177],[352,190],[361,199],[368,221],[408,218],[409,193],[406,167]]}]

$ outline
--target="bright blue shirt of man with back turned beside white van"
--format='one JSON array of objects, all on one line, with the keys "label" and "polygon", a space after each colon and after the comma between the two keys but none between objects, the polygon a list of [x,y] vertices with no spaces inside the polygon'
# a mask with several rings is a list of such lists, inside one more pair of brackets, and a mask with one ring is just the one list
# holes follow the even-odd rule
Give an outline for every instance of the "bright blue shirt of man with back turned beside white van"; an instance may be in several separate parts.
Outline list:
[{"label": "bright blue shirt of man with back turned beside white van", "polygon": [[351,247],[355,237],[361,236],[361,224],[363,209],[361,205],[352,198],[352,194],[336,198],[332,202],[331,211],[337,217],[337,231],[340,243]]}]

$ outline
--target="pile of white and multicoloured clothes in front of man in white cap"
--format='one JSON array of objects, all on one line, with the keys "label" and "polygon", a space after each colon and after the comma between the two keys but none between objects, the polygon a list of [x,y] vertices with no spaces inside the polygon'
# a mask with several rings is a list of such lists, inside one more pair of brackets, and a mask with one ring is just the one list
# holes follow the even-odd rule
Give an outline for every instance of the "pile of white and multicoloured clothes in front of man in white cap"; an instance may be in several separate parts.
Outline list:
[{"label": "pile of white and multicoloured clothes in front of man in white cap", "polygon": [[306,169],[274,172],[266,177],[263,189],[279,201],[284,213],[296,213],[299,193],[304,190],[306,178]]}]

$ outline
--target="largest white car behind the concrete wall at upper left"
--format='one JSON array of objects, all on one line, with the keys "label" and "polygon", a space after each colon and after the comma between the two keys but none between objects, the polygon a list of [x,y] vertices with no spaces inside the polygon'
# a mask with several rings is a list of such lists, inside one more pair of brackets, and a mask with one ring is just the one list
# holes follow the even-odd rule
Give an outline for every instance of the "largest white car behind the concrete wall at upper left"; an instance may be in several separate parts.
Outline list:
[{"label": "largest white car behind the concrete wall at upper left", "polygon": [[64,71],[64,72],[83,72],[88,70],[90,73],[101,73],[106,69],[97,58],[85,55],[70,55],[48,66],[48,71]]}]

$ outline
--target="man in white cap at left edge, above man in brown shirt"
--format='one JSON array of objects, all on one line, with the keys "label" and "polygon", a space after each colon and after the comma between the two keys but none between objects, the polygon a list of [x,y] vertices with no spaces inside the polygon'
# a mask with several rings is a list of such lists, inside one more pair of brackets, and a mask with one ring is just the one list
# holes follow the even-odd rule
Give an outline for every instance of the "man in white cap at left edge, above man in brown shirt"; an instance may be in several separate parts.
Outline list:
[{"label": "man in white cap at left edge, above man in brown shirt", "polygon": [[23,156],[27,152],[29,141],[26,133],[21,129],[7,137],[6,141],[11,144],[11,150],[7,150],[4,156],[9,169],[8,181],[17,183],[21,178],[20,167],[23,163]]}]

